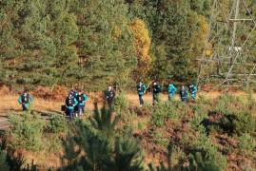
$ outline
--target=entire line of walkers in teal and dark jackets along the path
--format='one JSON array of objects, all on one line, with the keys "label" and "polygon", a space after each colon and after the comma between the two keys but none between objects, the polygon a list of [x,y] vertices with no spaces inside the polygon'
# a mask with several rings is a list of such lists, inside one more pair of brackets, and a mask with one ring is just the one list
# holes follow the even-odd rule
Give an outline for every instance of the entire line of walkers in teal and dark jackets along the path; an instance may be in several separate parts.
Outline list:
[{"label": "entire line of walkers in teal and dark jackets along the path", "polygon": [[[140,82],[137,85],[137,93],[139,96],[139,104],[142,106],[144,104],[143,96],[147,92],[148,87]],[[190,93],[190,98],[192,100],[196,99],[196,93],[198,88],[196,85],[189,85],[188,88],[185,85],[181,86],[180,98],[182,102],[188,102],[188,96]],[[152,85],[152,104],[155,105],[159,102],[159,94],[162,92],[162,86],[157,82]],[[167,85],[168,100],[174,99],[177,88],[174,84],[169,83]],[[105,104],[108,104],[109,108],[112,108],[115,98],[115,91],[112,86],[108,86],[105,91]],[[82,90],[71,89],[65,101],[65,105],[62,106],[62,110],[69,116],[70,119],[74,117],[82,117],[85,113],[86,103],[89,101],[89,96]],[[32,96],[29,94],[28,90],[25,90],[19,97],[18,103],[22,105],[23,110],[28,110],[33,102]]]}]

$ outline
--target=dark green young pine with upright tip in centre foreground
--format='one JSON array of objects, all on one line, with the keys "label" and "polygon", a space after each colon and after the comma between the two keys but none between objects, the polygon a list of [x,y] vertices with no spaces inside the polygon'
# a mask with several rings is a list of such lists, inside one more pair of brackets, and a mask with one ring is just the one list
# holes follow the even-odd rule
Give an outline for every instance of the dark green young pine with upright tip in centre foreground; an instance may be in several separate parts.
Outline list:
[{"label": "dark green young pine with upright tip in centre foreground", "polygon": [[[106,116],[101,118],[101,114]],[[68,160],[69,164],[61,170],[143,170],[139,143],[131,135],[116,135],[117,120],[111,122],[108,111],[103,109],[100,113],[96,107],[95,115],[90,123],[75,123],[75,133],[69,135],[65,144],[64,161]]]}]

